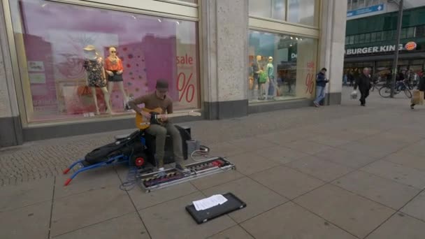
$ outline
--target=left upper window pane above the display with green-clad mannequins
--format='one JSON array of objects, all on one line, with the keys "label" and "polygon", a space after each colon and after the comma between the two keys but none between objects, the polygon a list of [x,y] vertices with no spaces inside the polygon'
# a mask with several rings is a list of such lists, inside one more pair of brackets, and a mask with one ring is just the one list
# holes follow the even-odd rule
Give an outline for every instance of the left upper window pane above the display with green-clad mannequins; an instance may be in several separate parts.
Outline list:
[{"label": "left upper window pane above the display with green-clad mannequins", "polygon": [[286,20],[286,0],[250,0],[250,15]]}]

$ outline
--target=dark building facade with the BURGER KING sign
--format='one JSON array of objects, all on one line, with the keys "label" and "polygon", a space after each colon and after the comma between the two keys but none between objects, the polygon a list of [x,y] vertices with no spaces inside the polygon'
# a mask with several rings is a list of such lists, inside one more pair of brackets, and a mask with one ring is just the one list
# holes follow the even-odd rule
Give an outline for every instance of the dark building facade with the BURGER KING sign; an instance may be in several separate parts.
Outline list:
[{"label": "dark building facade with the BURGER KING sign", "polygon": [[[410,75],[415,77],[425,68],[425,2],[407,2],[414,8],[403,10],[397,71],[410,70]],[[390,76],[396,50],[398,11],[389,9],[398,10],[398,6],[387,1],[382,5],[388,9],[387,13],[375,13],[353,20],[347,17],[345,72],[358,72],[363,67],[369,67],[382,80]]]}]

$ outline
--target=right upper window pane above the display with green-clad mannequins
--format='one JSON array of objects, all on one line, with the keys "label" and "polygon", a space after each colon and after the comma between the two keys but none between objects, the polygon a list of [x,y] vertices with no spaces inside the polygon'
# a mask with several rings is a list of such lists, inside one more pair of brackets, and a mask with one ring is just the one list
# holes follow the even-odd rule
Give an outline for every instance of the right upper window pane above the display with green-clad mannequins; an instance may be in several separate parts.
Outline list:
[{"label": "right upper window pane above the display with green-clad mannequins", "polygon": [[315,8],[318,6],[315,0],[289,0],[288,22],[317,26]]}]

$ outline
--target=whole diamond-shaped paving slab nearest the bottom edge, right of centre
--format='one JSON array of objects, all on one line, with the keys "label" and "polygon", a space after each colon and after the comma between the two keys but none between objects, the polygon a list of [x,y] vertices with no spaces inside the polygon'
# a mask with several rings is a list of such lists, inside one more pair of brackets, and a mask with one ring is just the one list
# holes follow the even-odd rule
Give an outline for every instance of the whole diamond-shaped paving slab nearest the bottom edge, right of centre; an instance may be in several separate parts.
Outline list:
[{"label": "whole diamond-shaped paving slab nearest the bottom edge, right of centre", "polygon": [[331,184],[296,198],[295,203],[359,238],[367,236],[395,212]]}]

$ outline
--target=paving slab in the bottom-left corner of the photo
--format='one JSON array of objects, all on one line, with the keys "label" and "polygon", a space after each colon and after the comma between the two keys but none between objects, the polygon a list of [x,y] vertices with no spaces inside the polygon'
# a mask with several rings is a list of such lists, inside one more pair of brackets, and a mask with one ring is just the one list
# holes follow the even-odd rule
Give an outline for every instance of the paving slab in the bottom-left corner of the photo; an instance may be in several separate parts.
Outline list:
[{"label": "paving slab in the bottom-left corner of the photo", "polygon": [[0,238],[48,238],[52,201],[0,212]]}]

